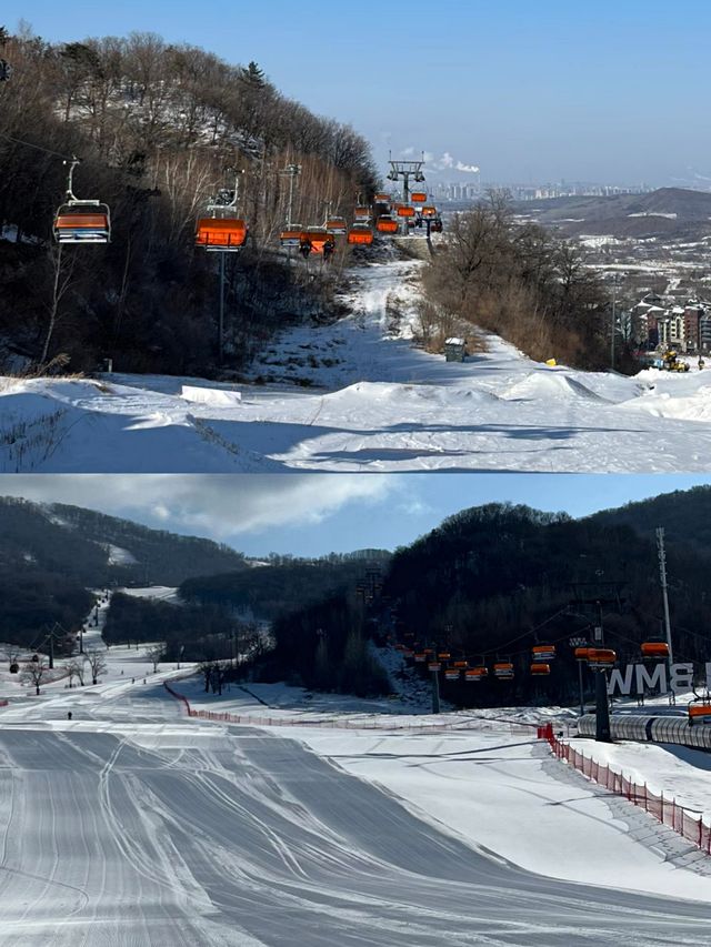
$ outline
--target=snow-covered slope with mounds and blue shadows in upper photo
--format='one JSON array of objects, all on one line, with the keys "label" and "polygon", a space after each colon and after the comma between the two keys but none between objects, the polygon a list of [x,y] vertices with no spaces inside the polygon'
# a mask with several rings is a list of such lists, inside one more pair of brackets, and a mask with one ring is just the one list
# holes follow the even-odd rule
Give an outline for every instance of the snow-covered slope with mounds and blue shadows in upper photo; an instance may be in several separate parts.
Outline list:
[{"label": "snow-covered slope with mounds and blue shadows in upper photo", "polygon": [[711,469],[711,370],[630,379],[550,367],[495,336],[445,363],[412,344],[420,265],[354,269],[352,313],[282,333],[253,383],[0,381],[0,471]]}]

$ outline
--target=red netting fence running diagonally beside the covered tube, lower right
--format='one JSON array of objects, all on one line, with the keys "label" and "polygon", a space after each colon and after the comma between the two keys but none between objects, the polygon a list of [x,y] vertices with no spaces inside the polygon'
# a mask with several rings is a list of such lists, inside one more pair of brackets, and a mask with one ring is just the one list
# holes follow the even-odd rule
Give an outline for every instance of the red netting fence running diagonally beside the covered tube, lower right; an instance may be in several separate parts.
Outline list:
[{"label": "red netting fence running diagonally beside the covered tube, lower right", "polygon": [[640,785],[632,782],[623,773],[615,773],[608,764],[601,764],[579,753],[577,749],[558,739],[552,732],[547,734],[547,739],[558,759],[562,759],[573,766],[588,779],[604,786],[615,796],[624,796],[630,803],[643,808],[645,813],[654,816],[662,825],[679,833],[683,838],[697,845],[702,852],[711,855],[711,826],[708,826],[699,813],[685,809],[675,799],[659,796],[648,787],[647,783]]}]

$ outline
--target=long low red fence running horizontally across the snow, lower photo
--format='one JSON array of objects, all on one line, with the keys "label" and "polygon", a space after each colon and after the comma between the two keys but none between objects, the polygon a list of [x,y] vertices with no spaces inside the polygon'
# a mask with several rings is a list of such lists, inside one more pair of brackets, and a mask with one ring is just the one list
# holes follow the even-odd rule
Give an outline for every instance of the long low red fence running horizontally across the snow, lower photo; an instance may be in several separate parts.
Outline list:
[{"label": "long low red fence running horizontally across the snow, lower photo", "polygon": [[[403,731],[408,733],[438,733],[442,731],[467,731],[467,729],[482,729],[482,727],[491,726],[492,724],[505,723],[511,733],[530,733],[531,727],[535,727],[535,724],[520,724],[512,723],[511,721],[502,721],[502,719],[491,719],[487,717],[480,718],[471,718],[459,722],[445,721],[442,723],[432,723],[432,724],[412,724],[412,723],[397,723],[392,718],[383,719],[382,716],[373,714],[371,717],[352,717],[352,718],[343,718],[343,717],[268,717],[268,716],[254,716],[253,714],[230,714],[227,712],[217,712],[217,711],[196,711],[190,706],[190,702],[182,694],[179,694],[178,691],[174,691],[168,682],[163,683],[163,686],[177,701],[180,701],[188,714],[189,717],[197,717],[202,721],[216,721],[218,723],[223,724],[244,724],[247,726],[263,726],[263,727],[298,727],[298,726],[308,726],[308,727],[326,727],[332,729],[377,729],[377,731]],[[492,727],[493,728],[493,727]],[[537,727],[537,735],[539,739],[548,739],[549,732],[552,735],[552,727],[550,724],[547,724],[544,727]]]}]

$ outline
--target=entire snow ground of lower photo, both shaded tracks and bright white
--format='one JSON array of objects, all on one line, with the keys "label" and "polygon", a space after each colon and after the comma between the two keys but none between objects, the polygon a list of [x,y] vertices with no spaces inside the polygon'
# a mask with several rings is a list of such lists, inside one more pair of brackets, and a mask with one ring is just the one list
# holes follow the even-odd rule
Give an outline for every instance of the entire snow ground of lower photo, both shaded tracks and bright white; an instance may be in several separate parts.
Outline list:
[{"label": "entire snow ground of lower photo, both shaded tracks and bright white", "polygon": [[[184,667],[106,656],[96,687],[40,697],[0,675],[0,945],[709,943],[705,863],[679,867],[651,817],[527,726],[570,712],[434,717],[262,684],[217,697]],[[252,724],[188,718],[168,678]]]}]

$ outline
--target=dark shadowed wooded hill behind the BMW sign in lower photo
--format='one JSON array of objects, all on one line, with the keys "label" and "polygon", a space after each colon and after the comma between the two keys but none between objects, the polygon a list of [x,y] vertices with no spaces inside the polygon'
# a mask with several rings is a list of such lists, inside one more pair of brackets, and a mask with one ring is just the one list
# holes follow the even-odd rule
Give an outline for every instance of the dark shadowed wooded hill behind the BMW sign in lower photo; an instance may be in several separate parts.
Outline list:
[{"label": "dark shadowed wooded hill behind the BMW sign in lower photo", "polygon": [[[634,517],[648,532],[660,522],[660,511],[667,513],[674,656],[699,665],[709,658],[711,643],[711,548],[693,530],[684,534],[674,528],[672,510],[679,511],[677,525],[682,527],[692,506],[701,518],[701,500],[708,503],[709,491],[658,497],[639,504]],[[489,676],[477,684],[442,675],[442,694],[457,704],[574,702],[578,668],[569,639],[590,638],[597,621],[591,598],[609,598],[602,615],[605,641],[622,664],[639,662],[640,643],[662,629],[657,548],[653,536],[631,524],[630,511],[635,506],[577,521],[510,504],[464,510],[398,550],[370,600],[359,600],[351,587],[282,614],[274,625],[273,663],[264,665],[264,673],[283,676],[291,669],[310,686],[327,689],[348,689],[353,681],[363,691],[378,689],[364,642],[417,642],[419,649],[448,652],[470,667],[488,666]],[[543,678],[530,674],[537,644],[552,644],[557,651]],[[347,654],[349,672],[343,669]],[[497,661],[512,662],[513,681],[493,678]],[[427,676],[424,665],[413,667]],[[592,675],[585,672],[583,678],[591,692]]]}]

